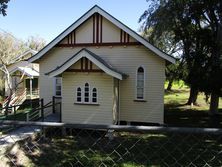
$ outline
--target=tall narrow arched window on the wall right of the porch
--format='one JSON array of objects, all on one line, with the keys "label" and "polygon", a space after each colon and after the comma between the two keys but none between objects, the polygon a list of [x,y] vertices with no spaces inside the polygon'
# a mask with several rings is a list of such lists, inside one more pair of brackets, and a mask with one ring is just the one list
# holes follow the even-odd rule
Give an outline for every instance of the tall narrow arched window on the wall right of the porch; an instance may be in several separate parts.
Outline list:
[{"label": "tall narrow arched window on the wall right of the porch", "polygon": [[144,69],[143,67],[139,67],[137,69],[136,98],[144,99]]}]

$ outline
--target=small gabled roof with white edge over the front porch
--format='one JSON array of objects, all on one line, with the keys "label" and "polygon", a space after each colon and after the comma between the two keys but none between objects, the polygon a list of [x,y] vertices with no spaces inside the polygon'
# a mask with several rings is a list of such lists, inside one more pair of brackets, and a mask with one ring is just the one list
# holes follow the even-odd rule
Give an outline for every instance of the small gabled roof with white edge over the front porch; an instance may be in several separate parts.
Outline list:
[{"label": "small gabled roof with white edge over the front porch", "polygon": [[103,70],[108,75],[111,75],[111,76],[113,76],[117,79],[120,79],[120,80],[122,80],[124,77],[126,77],[126,74],[119,72],[118,70],[113,68],[109,63],[107,63],[105,60],[103,60],[101,57],[99,57],[95,53],[93,53],[85,48],[81,49],[79,52],[77,52],[71,58],[66,60],[62,65],[60,65],[57,68],[53,69],[52,71],[46,73],[46,75],[48,75],[50,77],[58,76],[83,57],[86,57],[87,59],[89,59],[91,62],[93,62],[95,65],[97,65],[101,70]]}]

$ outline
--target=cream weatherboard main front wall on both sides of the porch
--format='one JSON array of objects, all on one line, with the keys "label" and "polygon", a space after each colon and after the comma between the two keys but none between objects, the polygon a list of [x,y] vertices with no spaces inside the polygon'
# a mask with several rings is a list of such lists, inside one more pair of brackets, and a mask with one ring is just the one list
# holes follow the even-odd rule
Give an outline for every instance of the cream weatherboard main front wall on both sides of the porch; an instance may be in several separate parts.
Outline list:
[{"label": "cream weatherboard main front wall on both sides of the porch", "polygon": [[[43,74],[55,69],[81,48],[54,48],[40,60],[40,96],[51,99],[53,80]],[[120,81],[120,119],[123,121],[163,123],[165,60],[143,46],[87,47],[116,69],[128,75]],[[135,102],[136,70],[145,68],[145,100]],[[63,85],[64,87],[64,85]],[[63,97],[66,92],[62,92]],[[45,101],[47,101],[45,100]],[[64,101],[64,100],[63,100]],[[111,116],[112,118],[112,116]]]}]

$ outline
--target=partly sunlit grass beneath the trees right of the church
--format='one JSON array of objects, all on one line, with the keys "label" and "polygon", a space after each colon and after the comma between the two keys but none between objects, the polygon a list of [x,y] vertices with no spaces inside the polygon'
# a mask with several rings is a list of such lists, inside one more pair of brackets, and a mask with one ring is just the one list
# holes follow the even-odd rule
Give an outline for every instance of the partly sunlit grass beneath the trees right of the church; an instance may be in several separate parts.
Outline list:
[{"label": "partly sunlit grass beneath the trees right of the church", "polygon": [[185,127],[222,127],[222,99],[219,101],[219,114],[209,115],[209,104],[203,93],[199,93],[198,106],[185,105],[189,97],[186,86],[173,86],[173,90],[165,92],[165,123],[169,126]]}]

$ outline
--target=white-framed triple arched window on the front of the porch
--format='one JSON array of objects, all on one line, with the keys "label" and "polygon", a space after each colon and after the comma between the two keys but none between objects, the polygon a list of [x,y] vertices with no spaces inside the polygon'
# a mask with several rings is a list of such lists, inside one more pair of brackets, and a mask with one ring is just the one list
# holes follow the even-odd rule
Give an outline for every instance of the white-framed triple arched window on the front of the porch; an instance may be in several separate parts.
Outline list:
[{"label": "white-framed triple arched window on the front of the porch", "polygon": [[85,83],[84,87],[76,89],[76,102],[77,103],[97,103],[97,89],[90,89],[89,83]]}]

